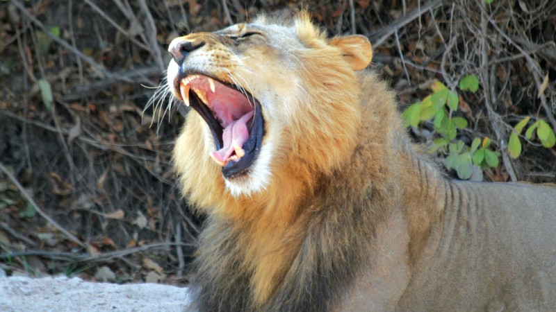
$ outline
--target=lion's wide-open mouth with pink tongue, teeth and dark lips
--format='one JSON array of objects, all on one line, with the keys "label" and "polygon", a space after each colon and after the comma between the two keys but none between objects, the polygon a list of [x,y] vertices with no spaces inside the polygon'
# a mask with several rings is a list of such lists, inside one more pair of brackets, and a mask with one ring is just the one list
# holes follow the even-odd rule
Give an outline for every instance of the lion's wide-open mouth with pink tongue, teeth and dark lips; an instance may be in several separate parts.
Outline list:
[{"label": "lion's wide-open mouth with pink tongue, teeth and dark lips", "polygon": [[261,150],[264,135],[259,101],[244,89],[203,75],[177,80],[176,89],[208,124],[216,150],[211,157],[224,177],[246,173]]}]

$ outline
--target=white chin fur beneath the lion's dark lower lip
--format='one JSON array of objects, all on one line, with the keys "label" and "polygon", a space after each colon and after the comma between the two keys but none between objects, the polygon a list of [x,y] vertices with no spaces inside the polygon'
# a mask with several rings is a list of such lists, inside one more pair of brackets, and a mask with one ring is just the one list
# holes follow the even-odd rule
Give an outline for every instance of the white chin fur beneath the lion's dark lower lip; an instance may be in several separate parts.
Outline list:
[{"label": "white chin fur beneath the lion's dark lower lip", "polygon": [[252,196],[254,193],[264,191],[270,183],[272,173],[270,171],[270,162],[272,162],[272,153],[274,148],[272,143],[263,144],[261,153],[255,159],[250,172],[240,177],[232,179],[224,179],[226,189],[232,196],[238,198],[240,196]]}]

